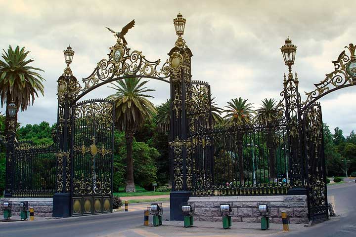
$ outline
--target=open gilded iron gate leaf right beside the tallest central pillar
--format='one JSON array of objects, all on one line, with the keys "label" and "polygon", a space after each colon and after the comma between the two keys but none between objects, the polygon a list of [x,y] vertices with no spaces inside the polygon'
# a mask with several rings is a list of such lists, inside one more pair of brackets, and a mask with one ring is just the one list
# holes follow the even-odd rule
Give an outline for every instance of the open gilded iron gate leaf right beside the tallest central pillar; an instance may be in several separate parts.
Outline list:
[{"label": "open gilded iron gate leaf right beside the tallest central pillar", "polygon": [[189,121],[187,146],[187,188],[212,194],[214,187],[213,139],[210,85],[192,81],[187,94]]}]

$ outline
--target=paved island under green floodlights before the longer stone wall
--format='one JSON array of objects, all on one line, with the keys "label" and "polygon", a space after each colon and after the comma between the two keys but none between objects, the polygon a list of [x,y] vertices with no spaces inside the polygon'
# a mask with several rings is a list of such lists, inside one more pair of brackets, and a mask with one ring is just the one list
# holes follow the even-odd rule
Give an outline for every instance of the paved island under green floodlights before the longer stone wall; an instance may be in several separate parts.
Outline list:
[{"label": "paved island under green floodlights before the longer stone wall", "polygon": [[[282,224],[270,224],[262,231],[261,223],[233,222],[231,229],[224,230],[221,222],[194,222],[191,228],[184,228],[183,221],[164,221],[162,226],[138,226],[136,228],[102,237],[247,237],[274,236],[283,232]],[[289,233],[307,230],[304,224],[289,224]],[[287,234],[287,233],[285,233]]]}]

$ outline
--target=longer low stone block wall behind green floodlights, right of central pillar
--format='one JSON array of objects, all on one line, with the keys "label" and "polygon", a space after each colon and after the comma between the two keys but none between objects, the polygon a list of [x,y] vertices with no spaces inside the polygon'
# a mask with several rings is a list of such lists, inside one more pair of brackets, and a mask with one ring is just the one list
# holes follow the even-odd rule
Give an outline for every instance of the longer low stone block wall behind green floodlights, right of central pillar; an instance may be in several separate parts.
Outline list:
[{"label": "longer low stone block wall behind green floodlights, right of central pillar", "polygon": [[188,201],[194,202],[197,221],[222,221],[220,203],[233,202],[233,222],[260,222],[257,203],[266,201],[271,204],[270,223],[282,223],[282,212],[287,212],[290,223],[309,223],[306,195],[189,197]]}]

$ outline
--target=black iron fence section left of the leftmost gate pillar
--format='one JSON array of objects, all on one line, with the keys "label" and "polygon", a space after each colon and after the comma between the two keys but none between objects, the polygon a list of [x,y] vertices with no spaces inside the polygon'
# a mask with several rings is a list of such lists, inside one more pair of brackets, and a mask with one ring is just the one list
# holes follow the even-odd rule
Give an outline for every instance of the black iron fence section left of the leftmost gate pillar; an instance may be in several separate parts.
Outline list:
[{"label": "black iron fence section left of the leftmost gate pillar", "polygon": [[56,148],[20,144],[8,160],[7,193],[12,197],[53,197],[56,187]]}]

